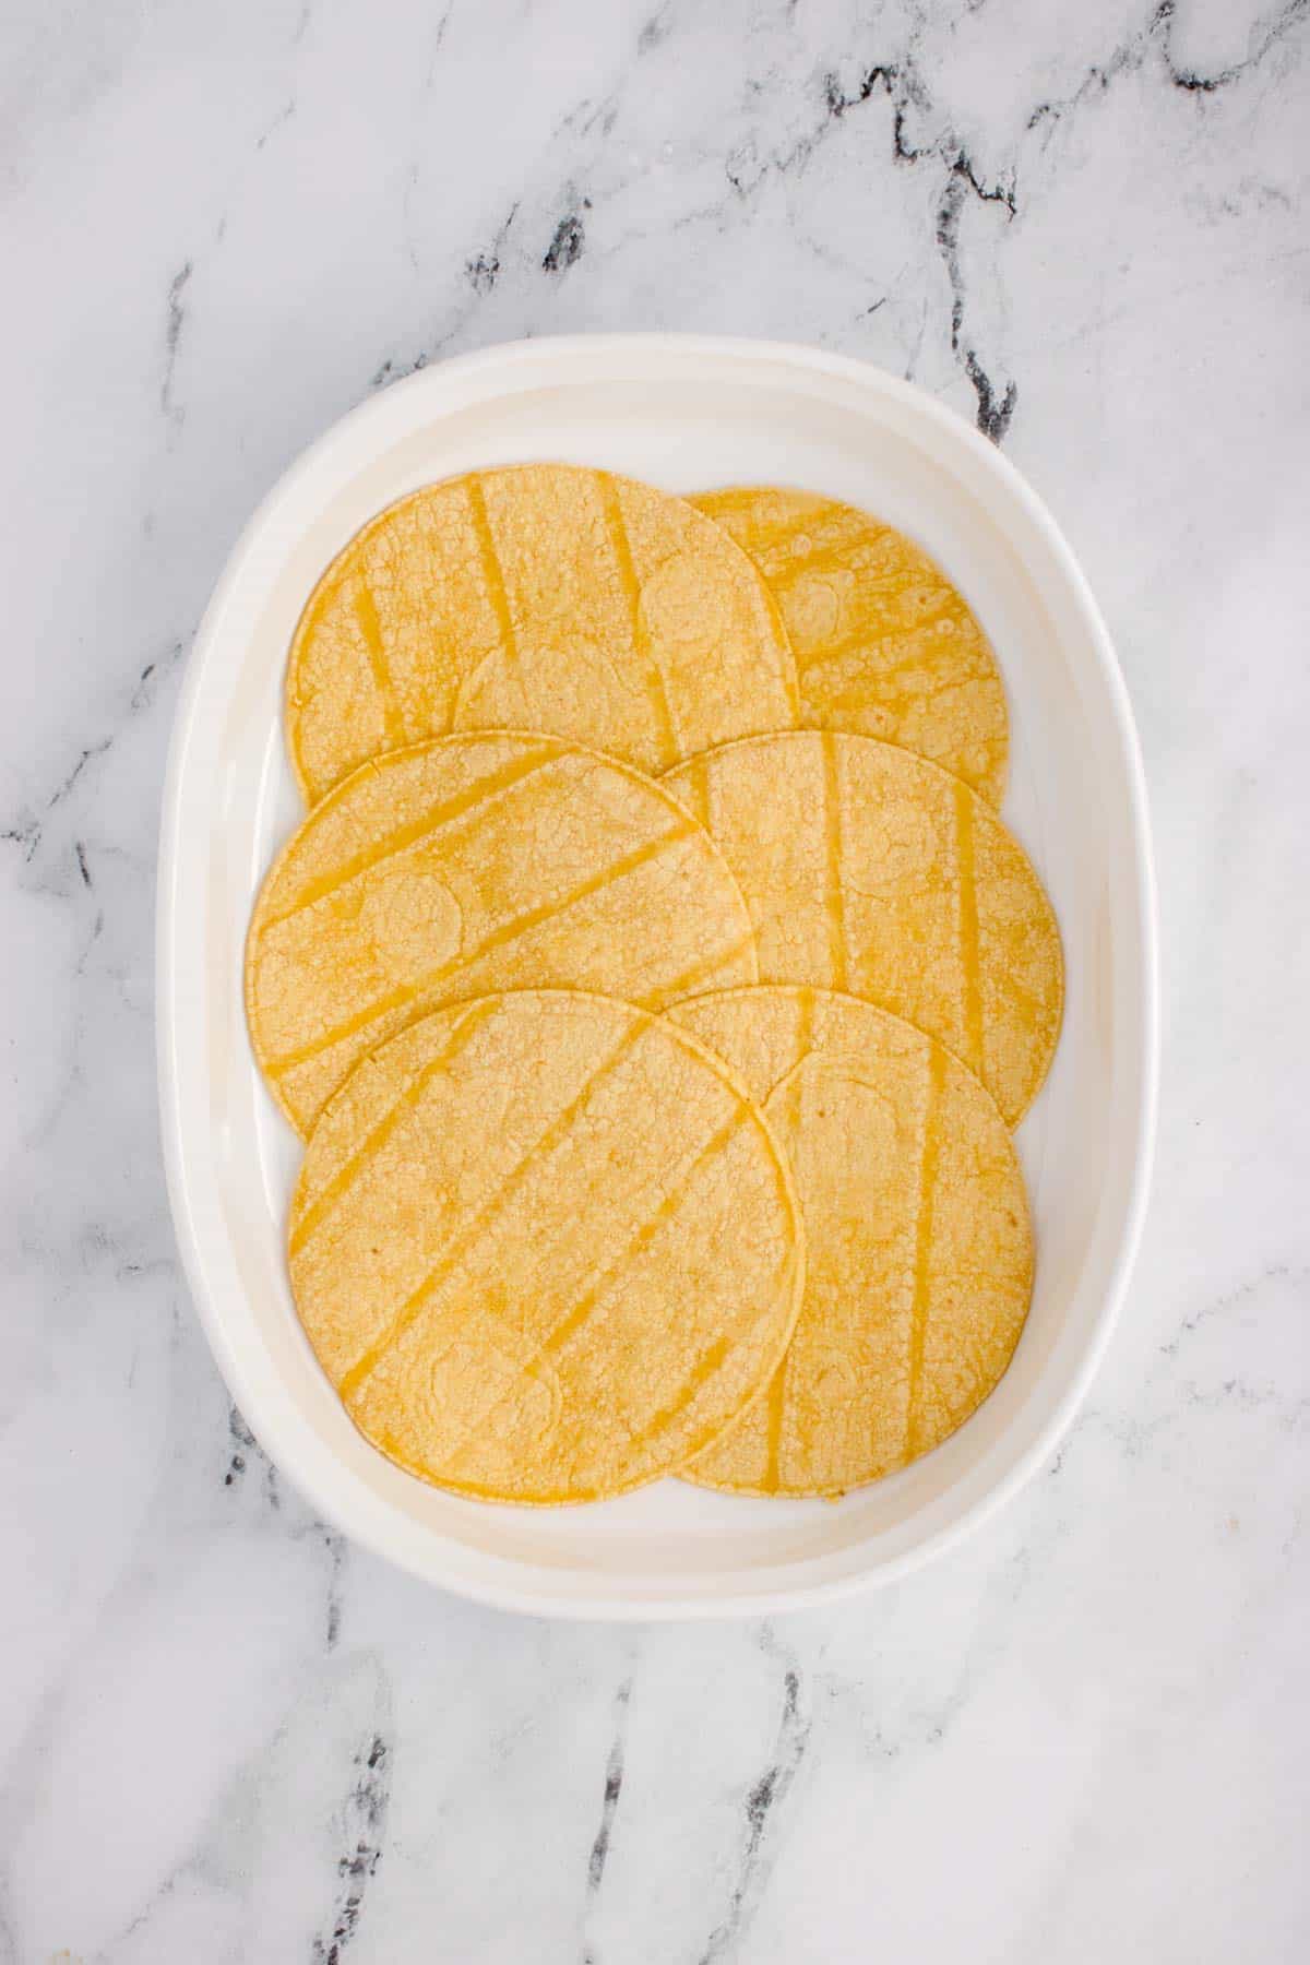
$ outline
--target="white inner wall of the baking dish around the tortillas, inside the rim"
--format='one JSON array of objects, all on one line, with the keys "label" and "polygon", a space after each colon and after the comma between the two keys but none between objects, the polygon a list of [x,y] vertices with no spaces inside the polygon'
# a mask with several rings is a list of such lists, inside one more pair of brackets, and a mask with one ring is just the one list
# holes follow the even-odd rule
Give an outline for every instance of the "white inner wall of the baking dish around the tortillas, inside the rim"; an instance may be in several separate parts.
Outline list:
[{"label": "white inner wall of the baking dish around the tortillas, inside the rim", "polygon": [[[344,479],[324,474],[310,521],[295,517],[261,548],[273,556],[273,584],[230,698],[220,747],[224,810],[210,865],[218,1175],[269,1364],[350,1474],[414,1527],[491,1556],[632,1574],[774,1568],[870,1537],[900,1541],[909,1519],[955,1484],[978,1484],[982,1464],[1033,1399],[1055,1405],[1068,1364],[1086,1346],[1082,1324],[1096,1305],[1076,1299],[1108,1171],[1112,926],[1108,827],[1096,747],[1084,727],[1084,684],[1039,586],[1006,538],[1004,515],[986,509],[900,424],[896,407],[874,401],[852,411],[805,385],[780,389],[774,377],[564,381],[428,421]],[[316,576],[375,511],[436,477],[534,458],[630,472],[672,491],[776,481],[864,505],[947,568],[1000,658],[1011,721],[1004,817],[1053,896],[1068,971],[1057,1063],[1019,1134],[1037,1226],[1037,1289],[1015,1362],[980,1413],[935,1454],[839,1505],[742,1501],[678,1482],[587,1509],[460,1501],[401,1474],[355,1434],[295,1317],[283,1222],[299,1144],[251,1071],[240,988],[259,878],[300,815],[281,733],[287,645]]]}]

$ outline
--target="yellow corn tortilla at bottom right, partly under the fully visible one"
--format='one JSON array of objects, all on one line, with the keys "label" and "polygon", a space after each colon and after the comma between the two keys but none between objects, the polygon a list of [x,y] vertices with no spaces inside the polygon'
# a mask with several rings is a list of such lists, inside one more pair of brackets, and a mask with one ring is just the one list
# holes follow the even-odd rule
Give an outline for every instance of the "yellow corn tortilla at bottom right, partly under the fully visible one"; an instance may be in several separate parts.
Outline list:
[{"label": "yellow corn tortilla at bottom right, partly under the fully visible one", "polygon": [[1033,1289],[1006,1122],[945,1045],[854,996],[742,988],[668,1016],[791,1161],[805,1297],[768,1393],[685,1476],[833,1495],[939,1446],[1006,1372]]}]

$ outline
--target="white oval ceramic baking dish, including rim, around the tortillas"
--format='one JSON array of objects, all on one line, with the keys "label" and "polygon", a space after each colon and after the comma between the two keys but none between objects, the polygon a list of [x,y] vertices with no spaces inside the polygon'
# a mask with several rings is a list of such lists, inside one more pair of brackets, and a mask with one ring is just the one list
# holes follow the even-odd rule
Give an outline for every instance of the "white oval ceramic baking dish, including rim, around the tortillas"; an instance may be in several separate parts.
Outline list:
[{"label": "white oval ceramic baking dish, including rim, around the tortillas", "polygon": [[[1010,1372],[943,1446],[839,1503],[660,1482],[524,1511],[375,1452],[291,1301],[300,1148],[246,1034],[242,953],[300,802],[283,676],[324,566],[393,499],[456,472],[566,460],[672,491],[782,483],[919,540],[996,648],[1004,819],[1047,884],[1066,1010],[1017,1146],[1037,1230]],[[517,342],[401,381],[328,430],[251,519],[200,625],[159,857],[159,1085],[173,1216],[220,1370],[263,1448],[355,1541],[428,1582],[572,1617],[774,1613],[905,1574],[1039,1468],[1108,1342],[1145,1208],[1157,1071],[1155,898],[1137,737],[1088,586],[1019,474],[953,411],[841,356],[695,336]]]}]

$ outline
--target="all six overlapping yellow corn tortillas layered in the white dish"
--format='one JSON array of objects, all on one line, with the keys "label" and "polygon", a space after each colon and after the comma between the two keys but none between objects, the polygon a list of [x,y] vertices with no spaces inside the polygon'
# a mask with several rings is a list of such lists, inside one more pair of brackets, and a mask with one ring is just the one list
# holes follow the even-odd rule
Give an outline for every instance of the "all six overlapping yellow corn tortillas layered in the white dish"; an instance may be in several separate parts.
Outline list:
[{"label": "all six overlapping yellow corn tortillas layered in the white dish", "polygon": [[359,1431],[460,1493],[835,1495],[1004,1374],[1055,918],[905,536],[575,466],[412,493],[300,617],[246,1004]]}]

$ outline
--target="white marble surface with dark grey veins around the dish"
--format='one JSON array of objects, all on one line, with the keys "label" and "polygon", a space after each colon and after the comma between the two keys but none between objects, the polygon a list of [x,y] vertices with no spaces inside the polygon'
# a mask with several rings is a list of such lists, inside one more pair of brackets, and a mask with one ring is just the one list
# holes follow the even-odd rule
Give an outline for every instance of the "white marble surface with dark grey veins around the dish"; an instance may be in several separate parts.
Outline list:
[{"label": "white marble surface with dark grey veins around the dish", "polygon": [[[1310,8],[12,0],[0,1959],[1310,1955]],[[326,422],[579,328],[976,413],[1118,637],[1157,1193],[960,1554],[776,1625],[407,1582],[244,1432],[159,1173],[151,906],[210,584]]]}]

